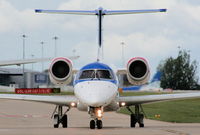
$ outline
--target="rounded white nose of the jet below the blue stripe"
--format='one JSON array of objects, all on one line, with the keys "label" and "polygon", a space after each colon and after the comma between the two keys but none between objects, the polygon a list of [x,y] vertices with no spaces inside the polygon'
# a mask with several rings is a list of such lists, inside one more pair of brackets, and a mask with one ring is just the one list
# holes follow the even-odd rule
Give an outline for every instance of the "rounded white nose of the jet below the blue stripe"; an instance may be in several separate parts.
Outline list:
[{"label": "rounded white nose of the jet below the blue stripe", "polygon": [[106,81],[81,82],[75,87],[75,95],[87,106],[99,107],[109,104],[117,94],[117,86]]}]

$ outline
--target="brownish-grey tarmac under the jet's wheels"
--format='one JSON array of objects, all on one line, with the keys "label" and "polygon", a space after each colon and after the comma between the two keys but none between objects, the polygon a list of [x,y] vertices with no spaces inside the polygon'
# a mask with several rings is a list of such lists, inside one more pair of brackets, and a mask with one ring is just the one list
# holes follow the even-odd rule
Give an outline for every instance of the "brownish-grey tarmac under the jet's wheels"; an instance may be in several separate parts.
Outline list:
[{"label": "brownish-grey tarmac under the jet's wheels", "polygon": [[0,100],[0,135],[199,135],[200,123],[176,124],[145,120],[144,128],[130,128],[129,116],[104,113],[103,129],[89,129],[87,112],[72,109],[69,128],[53,128],[54,105]]}]

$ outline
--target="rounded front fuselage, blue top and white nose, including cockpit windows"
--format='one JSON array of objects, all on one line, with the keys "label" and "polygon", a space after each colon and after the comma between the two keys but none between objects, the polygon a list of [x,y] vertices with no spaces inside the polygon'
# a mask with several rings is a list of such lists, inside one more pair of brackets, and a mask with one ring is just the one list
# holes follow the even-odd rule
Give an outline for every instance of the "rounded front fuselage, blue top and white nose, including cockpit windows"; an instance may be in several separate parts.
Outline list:
[{"label": "rounded front fuselage, blue top and white nose, including cockpit windows", "polygon": [[74,80],[74,94],[79,105],[105,107],[118,94],[118,80],[113,70],[100,62],[90,63],[77,73]]}]

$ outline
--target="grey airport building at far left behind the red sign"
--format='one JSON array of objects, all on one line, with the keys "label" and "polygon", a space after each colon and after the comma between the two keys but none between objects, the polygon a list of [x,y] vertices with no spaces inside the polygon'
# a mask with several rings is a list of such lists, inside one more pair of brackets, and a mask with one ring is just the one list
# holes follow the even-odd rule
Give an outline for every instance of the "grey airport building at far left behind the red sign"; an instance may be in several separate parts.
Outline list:
[{"label": "grey airport building at far left behind the red sign", "polygon": [[20,68],[0,68],[0,85],[15,88],[40,88],[51,85],[47,72],[35,72]]}]

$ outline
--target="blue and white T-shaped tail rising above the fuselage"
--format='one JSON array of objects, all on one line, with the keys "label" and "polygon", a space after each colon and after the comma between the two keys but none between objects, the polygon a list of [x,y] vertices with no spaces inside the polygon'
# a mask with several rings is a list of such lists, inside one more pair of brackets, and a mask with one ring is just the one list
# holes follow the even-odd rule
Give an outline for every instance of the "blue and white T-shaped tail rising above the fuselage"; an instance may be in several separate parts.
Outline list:
[{"label": "blue and white T-shaped tail rising above the fuselage", "polygon": [[75,14],[75,15],[96,15],[98,17],[98,55],[97,61],[100,61],[102,50],[102,20],[104,15],[122,15],[122,14],[140,14],[140,13],[157,13],[166,12],[167,9],[147,9],[147,10],[42,10],[36,9],[36,13],[52,13],[52,14]]}]

